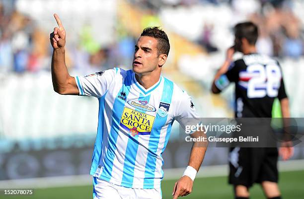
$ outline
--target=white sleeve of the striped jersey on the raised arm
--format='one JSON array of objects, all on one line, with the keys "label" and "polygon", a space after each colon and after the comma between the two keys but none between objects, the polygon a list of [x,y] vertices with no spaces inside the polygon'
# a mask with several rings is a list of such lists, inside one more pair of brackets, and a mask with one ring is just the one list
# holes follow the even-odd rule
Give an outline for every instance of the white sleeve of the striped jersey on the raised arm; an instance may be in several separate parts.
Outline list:
[{"label": "white sleeve of the striped jersey on the raised arm", "polygon": [[105,71],[88,74],[85,76],[76,76],[76,84],[79,95],[101,97],[109,89],[114,80],[118,68],[108,69]]}]

